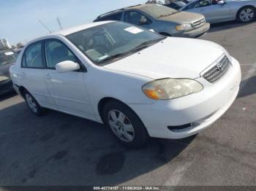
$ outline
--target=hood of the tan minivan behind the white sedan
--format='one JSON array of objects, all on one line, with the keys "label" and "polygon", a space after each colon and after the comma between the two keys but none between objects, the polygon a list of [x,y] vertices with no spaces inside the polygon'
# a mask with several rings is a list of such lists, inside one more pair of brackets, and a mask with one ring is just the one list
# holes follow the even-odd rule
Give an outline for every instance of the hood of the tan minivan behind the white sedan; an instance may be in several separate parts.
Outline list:
[{"label": "hood of the tan minivan behind the white sedan", "polygon": [[158,20],[170,21],[173,23],[194,23],[198,20],[202,20],[204,18],[203,15],[194,13],[194,12],[177,12],[176,14],[160,17]]}]

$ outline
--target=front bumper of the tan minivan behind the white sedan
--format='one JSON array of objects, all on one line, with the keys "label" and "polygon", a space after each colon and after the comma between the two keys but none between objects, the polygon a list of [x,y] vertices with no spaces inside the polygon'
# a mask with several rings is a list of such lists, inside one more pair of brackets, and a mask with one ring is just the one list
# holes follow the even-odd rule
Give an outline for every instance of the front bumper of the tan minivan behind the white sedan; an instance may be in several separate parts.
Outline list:
[{"label": "front bumper of the tan minivan behind the white sedan", "polygon": [[199,28],[195,28],[192,31],[184,32],[181,34],[173,34],[173,36],[174,37],[197,38],[199,36],[202,36],[203,34],[206,34],[209,29],[210,29],[210,23],[204,23],[203,26],[200,26]]}]

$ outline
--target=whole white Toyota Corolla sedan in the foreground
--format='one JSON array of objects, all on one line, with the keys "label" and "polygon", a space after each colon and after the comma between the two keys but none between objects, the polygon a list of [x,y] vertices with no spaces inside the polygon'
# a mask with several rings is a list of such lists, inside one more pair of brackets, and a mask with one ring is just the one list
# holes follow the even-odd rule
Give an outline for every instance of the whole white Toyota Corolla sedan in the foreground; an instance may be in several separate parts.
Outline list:
[{"label": "whole white Toyota Corolla sedan in the foreground", "polygon": [[48,108],[104,122],[131,147],[206,129],[241,82],[238,61],[218,44],[112,21],[35,39],[10,73],[34,114]]}]

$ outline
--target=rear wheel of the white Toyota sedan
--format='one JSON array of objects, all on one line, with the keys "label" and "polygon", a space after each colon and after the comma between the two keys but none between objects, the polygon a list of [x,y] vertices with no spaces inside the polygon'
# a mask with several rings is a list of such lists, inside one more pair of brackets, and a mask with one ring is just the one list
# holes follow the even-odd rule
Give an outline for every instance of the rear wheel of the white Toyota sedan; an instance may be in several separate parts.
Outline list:
[{"label": "rear wheel of the white Toyota sedan", "polygon": [[42,114],[44,114],[45,109],[37,103],[37,100],[31,95],[31,93],[29,93],[27,90],[24,90],[23,97],[26,101],[27,106],[29,107],[29,110],[33,114],[37,116],[41,116]]}]

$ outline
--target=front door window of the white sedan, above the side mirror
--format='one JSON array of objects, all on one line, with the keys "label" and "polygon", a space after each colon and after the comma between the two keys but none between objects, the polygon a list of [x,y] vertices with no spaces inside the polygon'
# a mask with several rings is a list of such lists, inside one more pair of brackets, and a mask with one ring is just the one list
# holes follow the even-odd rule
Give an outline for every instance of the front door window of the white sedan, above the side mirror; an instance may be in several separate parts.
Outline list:
[{"label": "front door window of the white sedan, above the side mirror", "polygon": [[45,42],[45,57],[47,66],[50,69],[55,69],[56,64],[63,61],[77,62],[76,56],[69,48],[57,40]]}]

